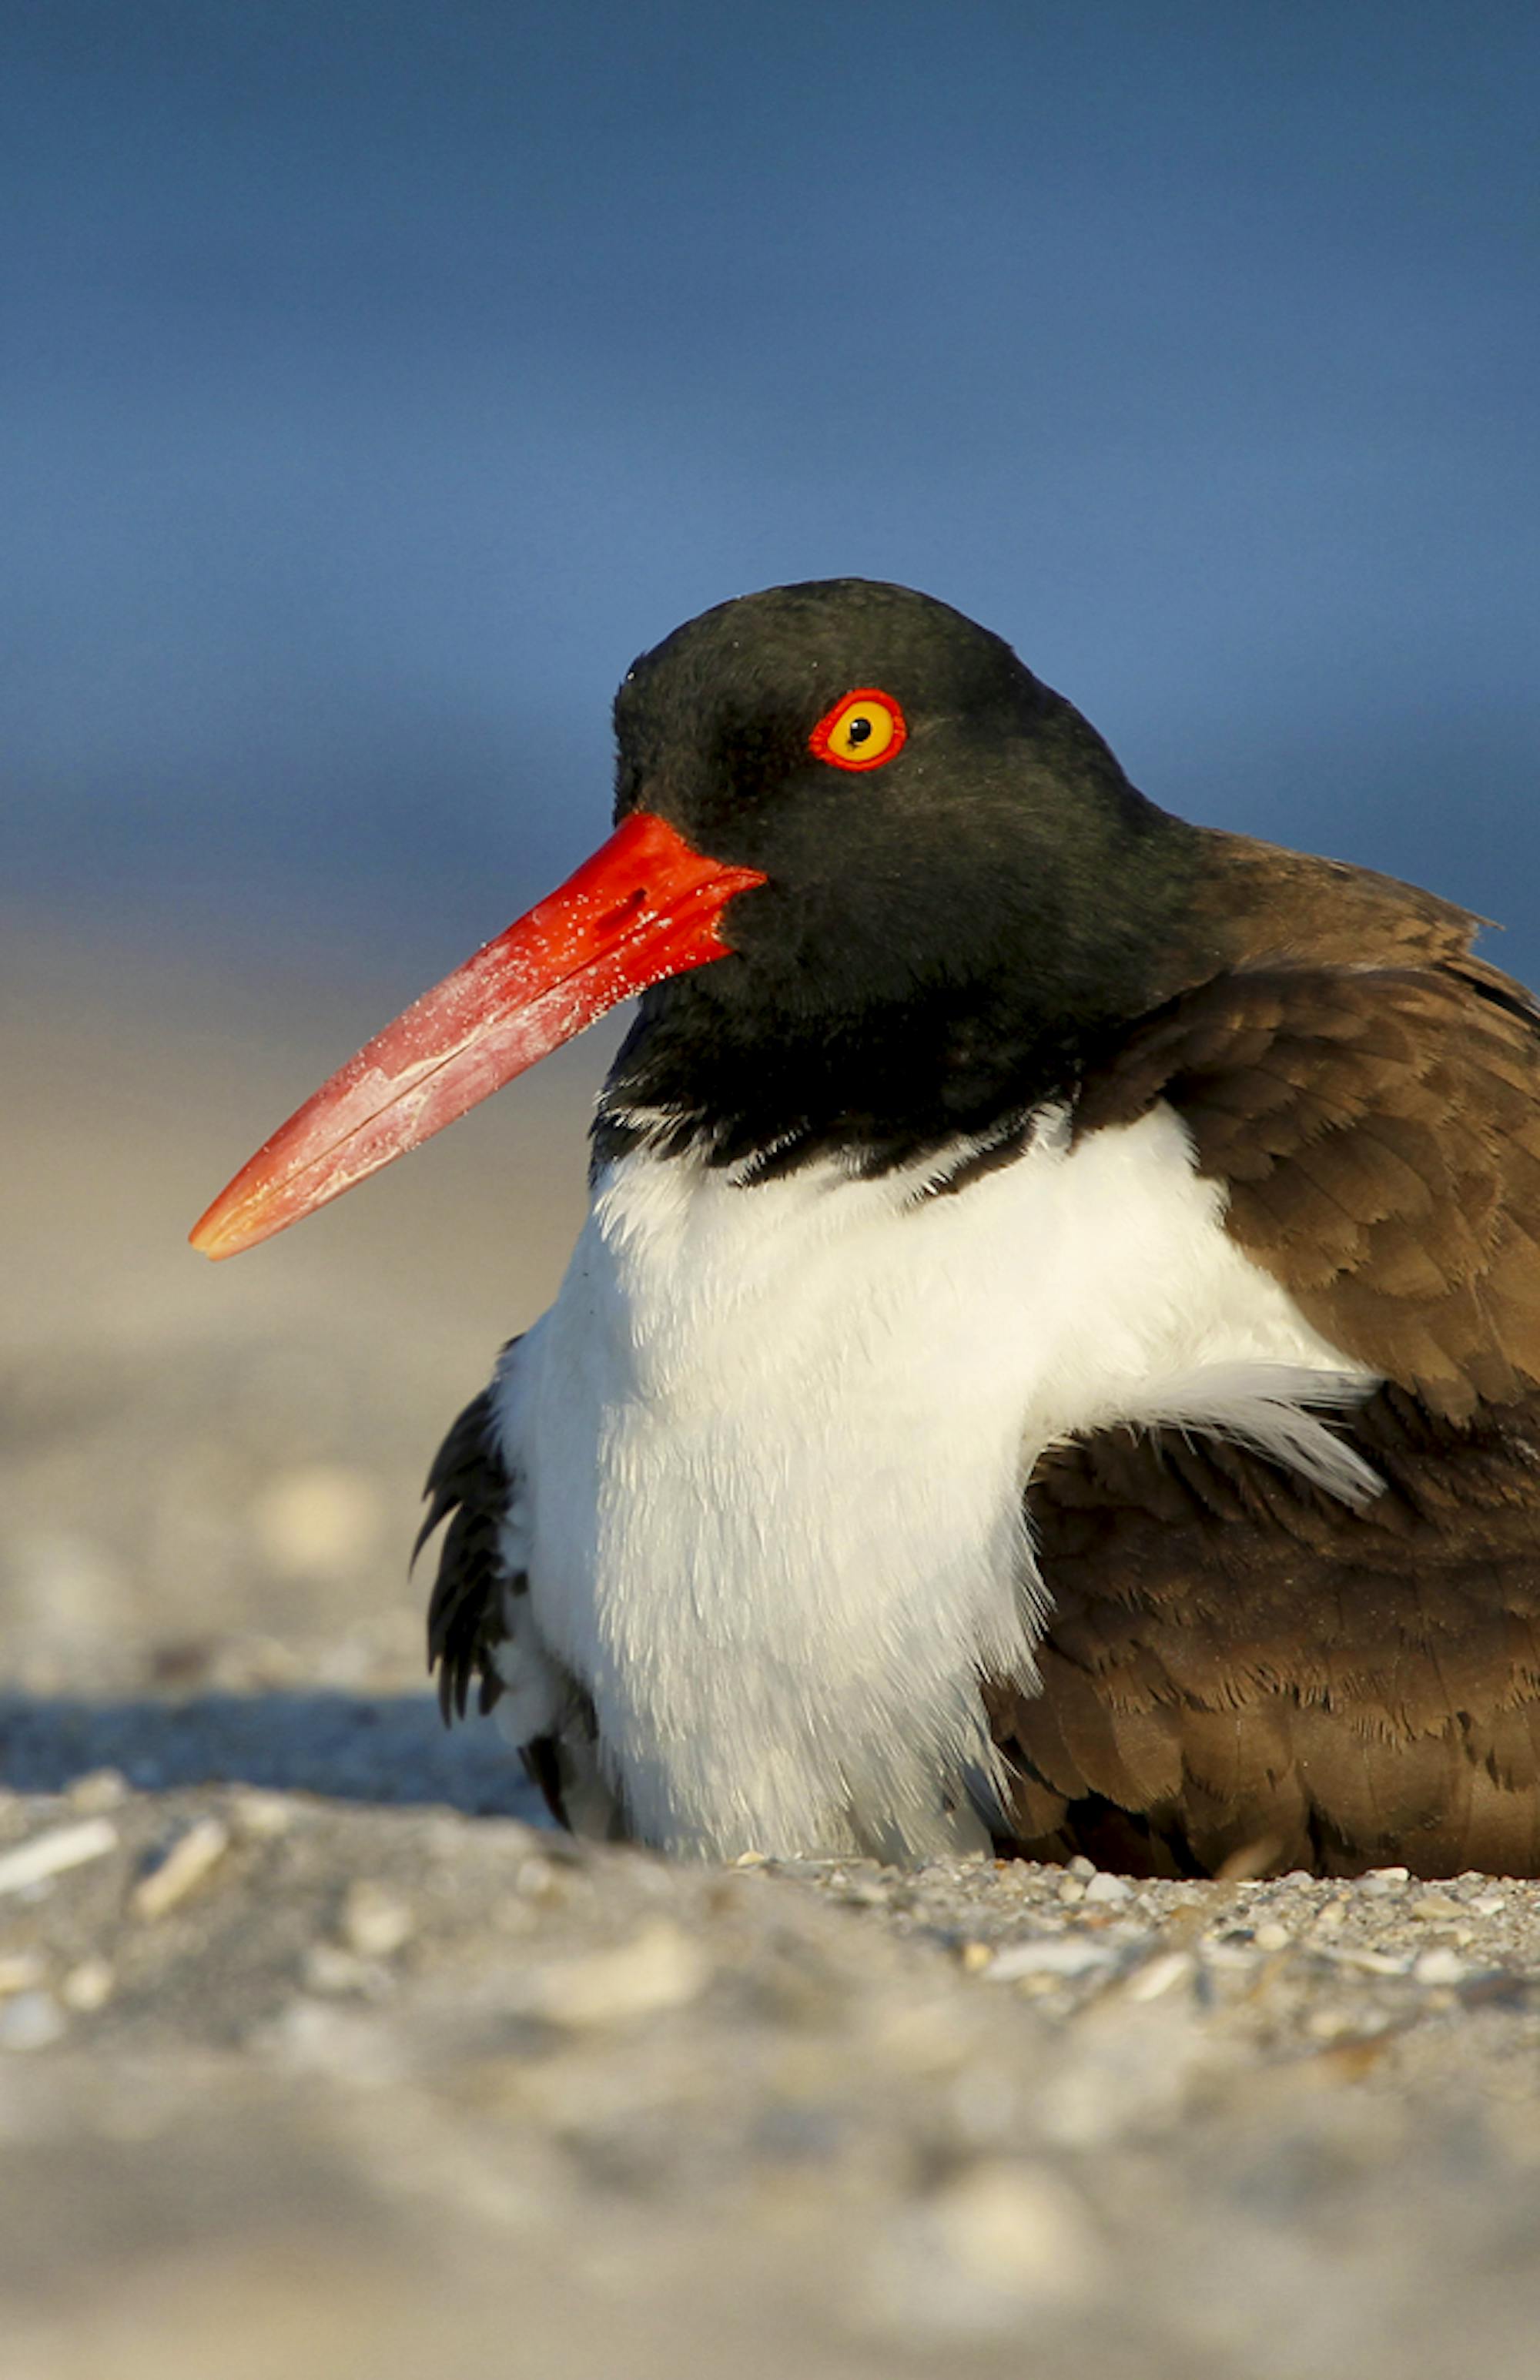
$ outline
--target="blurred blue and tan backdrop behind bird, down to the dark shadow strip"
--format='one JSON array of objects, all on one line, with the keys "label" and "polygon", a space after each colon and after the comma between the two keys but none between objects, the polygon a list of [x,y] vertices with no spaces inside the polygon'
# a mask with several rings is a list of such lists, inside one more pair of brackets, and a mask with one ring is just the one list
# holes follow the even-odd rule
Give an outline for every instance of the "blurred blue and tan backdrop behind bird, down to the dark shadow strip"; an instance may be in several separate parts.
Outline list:
[{"label": "blurred blue and tan backdrop behind bird, down to the dark shadow strip", "polygon": [[1159,802],[1540,973],[1538,67],[1502,0],[7,0],[19,1676],[417,1673],[417,1480],[605,1038],[183,1233],[590,850],[709,602],[943,595]]}]

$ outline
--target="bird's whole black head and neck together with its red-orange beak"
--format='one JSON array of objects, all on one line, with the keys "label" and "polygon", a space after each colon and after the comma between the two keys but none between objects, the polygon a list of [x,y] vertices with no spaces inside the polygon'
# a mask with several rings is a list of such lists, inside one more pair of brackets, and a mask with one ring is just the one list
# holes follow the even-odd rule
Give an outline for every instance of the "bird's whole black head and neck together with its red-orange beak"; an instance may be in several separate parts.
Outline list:
[{"label": "bird's whole black head and neck together with its red-orange beak", "polygon": [[631,666],[614,724],[612,838],[307,1100],[195,1247],[271,1238],[633,992],[626,1102],[724,1161],[843,1119],[966,1130],[1138,1007],[1195,869],[1069,702],[909,588],[719,605]]}]

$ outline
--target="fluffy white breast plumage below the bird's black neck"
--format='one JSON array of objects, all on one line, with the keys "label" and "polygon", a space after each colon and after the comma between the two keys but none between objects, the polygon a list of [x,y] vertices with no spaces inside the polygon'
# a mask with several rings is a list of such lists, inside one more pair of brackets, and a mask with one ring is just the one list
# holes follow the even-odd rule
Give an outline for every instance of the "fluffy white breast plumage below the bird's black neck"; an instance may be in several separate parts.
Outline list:
[{"label": "fluffy white breast plumage below the bird's black neck", "polygon": [[957,1195],[933,1171],[626,1157],[502,1376],[526,1645],[664,1849],[985,1840],[978,1676],[1033,1676],[1052,1440],[1183,1421],[1373,1485],[1300,1409],[1369,1376],[1226,1238],[1171,1109],[1076,1150],[1054,1111]]}]

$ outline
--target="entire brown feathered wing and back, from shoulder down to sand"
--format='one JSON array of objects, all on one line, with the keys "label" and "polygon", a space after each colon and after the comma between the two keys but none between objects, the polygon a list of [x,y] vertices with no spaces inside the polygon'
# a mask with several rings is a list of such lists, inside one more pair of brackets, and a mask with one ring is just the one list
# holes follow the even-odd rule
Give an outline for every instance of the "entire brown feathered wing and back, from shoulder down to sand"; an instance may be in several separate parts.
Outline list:
[{"label": "entire brown feathered wing and back, from shoulder down to sand", "polygon": [[1028,1490],[1043,1697],[993,1690],[1021,1842],[1143,1866],[1540,1868],[1540,1033],[1442,966],[1228,973],[1078,1130],[1169,1100],[1228,1228],[1388,1388],[1347,1511],[1262,1457],[1104,1433]]}]

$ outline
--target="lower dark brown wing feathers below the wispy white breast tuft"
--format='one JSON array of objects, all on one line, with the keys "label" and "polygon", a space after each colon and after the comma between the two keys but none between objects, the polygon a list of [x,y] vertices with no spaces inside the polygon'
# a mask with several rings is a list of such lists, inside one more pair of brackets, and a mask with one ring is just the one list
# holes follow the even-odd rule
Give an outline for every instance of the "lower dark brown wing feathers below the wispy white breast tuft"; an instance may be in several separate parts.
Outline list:
[{"label": "lower dark brown wing feathers below the wispy white breast tuft", "polygon": [[1019,1849],[1212,1873],[1540,1871],[1538,1399],[1354,1418],[1361,1511],[1257,1454],[1097,1433],[1028,1490],[1043,1695],[993,1690]]}]

